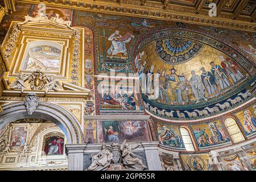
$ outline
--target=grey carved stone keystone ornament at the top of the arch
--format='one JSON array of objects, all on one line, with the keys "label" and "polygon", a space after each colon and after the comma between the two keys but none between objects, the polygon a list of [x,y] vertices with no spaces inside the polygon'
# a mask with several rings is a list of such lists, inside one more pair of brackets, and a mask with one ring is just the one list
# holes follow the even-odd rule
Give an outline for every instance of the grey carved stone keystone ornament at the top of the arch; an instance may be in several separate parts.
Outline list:
[{"label": "grey carved stone keystone ornament at the top of the arch", "polygon": [[38,96],[36,96],[35,93],[28,93],[25,98],[25,107],[27,110],[27,114],[31,115],[32,113],[34,113],[38,105],[39,105]]}]

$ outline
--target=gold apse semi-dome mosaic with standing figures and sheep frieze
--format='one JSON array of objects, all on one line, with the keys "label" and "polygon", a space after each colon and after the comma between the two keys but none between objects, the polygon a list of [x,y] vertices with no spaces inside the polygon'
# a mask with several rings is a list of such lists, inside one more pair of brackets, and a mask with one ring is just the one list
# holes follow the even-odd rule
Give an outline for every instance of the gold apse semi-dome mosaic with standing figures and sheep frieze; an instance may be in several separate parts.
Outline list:
[{"label": "gold apse semi-dome mosaic with standing figures and sheep frieze", "polygon": [[[129,56],[146,83],[142,98],[152,115],[179,121],[203,119],[253,98],[255,60],[216,34],[166,28],[153,29],[137,40],[131,44],[137,49]],[[138,55],[144,57],[141,64]],[[157,90],[154,82],[147,84],[156,78]]]}]

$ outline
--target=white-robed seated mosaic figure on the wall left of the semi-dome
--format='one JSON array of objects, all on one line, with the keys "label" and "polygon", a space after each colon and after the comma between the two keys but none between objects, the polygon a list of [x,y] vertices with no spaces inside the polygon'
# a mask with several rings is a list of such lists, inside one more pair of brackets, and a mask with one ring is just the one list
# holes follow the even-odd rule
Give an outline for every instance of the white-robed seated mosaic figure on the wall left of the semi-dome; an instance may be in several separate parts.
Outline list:
[{"label": "white-robed seated mosaic figure on the wall left of the semi-dome", "polygon": [[119,53],[122,55],[121,59],[125,59],[123,56],[127,56],[126,43],[129,43],[131,38],[134,38],[134,35],[127,32],[124,36],[121,36],[118,30],[110,35],[108,38],[109,41],[112,41],[112,45],[108,49],[108,54],[111,55],[110,59]]}]

